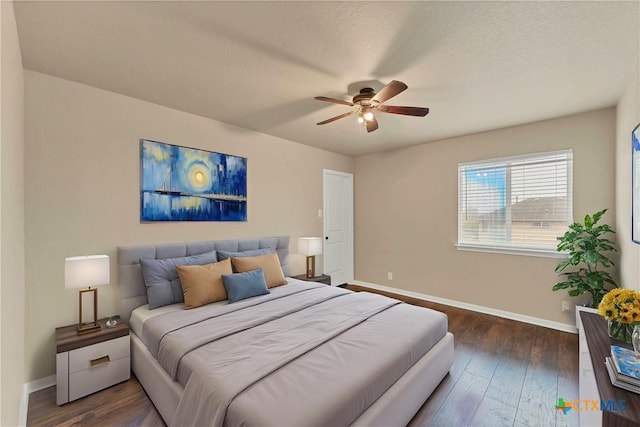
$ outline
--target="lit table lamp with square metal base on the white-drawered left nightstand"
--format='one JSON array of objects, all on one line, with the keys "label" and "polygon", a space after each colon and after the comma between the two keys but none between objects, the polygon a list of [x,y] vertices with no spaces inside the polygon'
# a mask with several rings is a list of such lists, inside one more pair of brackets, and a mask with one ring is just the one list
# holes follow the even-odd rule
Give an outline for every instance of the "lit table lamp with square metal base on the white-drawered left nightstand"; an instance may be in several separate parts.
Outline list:
[{"label": "lit table lamp with square metal base on the white-drawered left nightstand", "polygon": [[[78,335],[100,330],[98,324],[98,290],[91,286],[109,283],[109,256],[89,255],[64,259],[64,287],[87,288],[79,291]],[[82,319],[82,299],[84,294],[93,293],[93,321]]]}]

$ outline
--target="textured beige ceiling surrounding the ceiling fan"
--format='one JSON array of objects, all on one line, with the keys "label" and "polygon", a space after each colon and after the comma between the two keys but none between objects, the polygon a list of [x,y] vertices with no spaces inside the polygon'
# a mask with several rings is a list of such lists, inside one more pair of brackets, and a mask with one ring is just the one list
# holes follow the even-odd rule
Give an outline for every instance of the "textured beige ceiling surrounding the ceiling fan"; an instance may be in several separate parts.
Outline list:
[{"label": "textured beige ceiling surrounding the ceiling fan", "polygon": [[[16,2],[24,67],[347,155],[613,106],[639,58],[640,3]],[[324,126],[390,80],[378,114]]]}]

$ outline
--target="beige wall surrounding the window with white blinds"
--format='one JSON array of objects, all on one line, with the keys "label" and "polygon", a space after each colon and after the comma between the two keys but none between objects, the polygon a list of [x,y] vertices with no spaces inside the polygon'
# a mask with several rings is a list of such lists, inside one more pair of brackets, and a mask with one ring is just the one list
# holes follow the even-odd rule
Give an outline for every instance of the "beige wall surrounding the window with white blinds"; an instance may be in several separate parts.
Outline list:
[{"label": "beige wall surrounding the window with white blinds", "polygon": [[[615,226],[615,111],[469,135],[356,159],[355,278],[565,324],[557,259],[457,251],[459,162],[573,148],[574,218]],[[393,273],[393,281],[387,280]]]}]

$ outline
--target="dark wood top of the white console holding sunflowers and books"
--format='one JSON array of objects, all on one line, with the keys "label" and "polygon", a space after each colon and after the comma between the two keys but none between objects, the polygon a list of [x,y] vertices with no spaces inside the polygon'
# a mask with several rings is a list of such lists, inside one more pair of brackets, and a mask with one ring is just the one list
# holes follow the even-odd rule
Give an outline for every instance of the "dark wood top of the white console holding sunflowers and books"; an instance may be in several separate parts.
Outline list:
[{"label": "dark wood top of the white console holding sunflowers and books", "polygon": [[[593,373],[596,377],[600,400],[605,402],[610,400],[614,402],[625,401],[626,409],[624,411],[612,411],[608,409],[602,411],[602,425],[605,427],[639,427],[640,394],[632,393],[611,385],[609,373],[604,364],[604,358],[611,356],[612,344],[607,334],[607,321],[595,313],[581,312],[580,317],[589,347],[589,354],[591,355],[591,363],[593,364]],[[614,343],[631,348],[630,345],[624,345],[624,343],[620,341],[615,341]],[[594,398],[596,397],[597,396],[594,396]]]}]

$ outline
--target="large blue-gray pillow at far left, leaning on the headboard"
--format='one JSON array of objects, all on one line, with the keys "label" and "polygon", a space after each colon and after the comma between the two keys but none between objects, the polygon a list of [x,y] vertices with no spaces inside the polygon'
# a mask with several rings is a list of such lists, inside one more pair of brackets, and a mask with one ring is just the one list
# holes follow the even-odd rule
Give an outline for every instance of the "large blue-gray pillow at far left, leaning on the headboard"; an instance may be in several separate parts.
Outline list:
[{"label": "large blue-gray pillow at far left, leaning on the headboard", "polygon": [[184,302],[176,265],[203,265],[216,261],[215,251],[182,258],[140,259],[149,309]]}]

